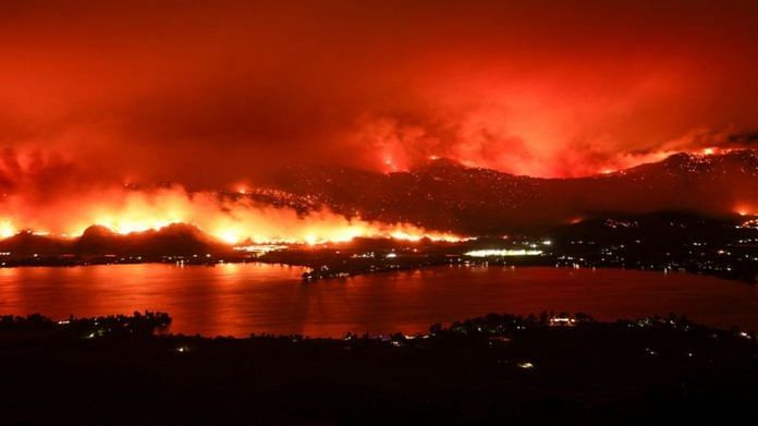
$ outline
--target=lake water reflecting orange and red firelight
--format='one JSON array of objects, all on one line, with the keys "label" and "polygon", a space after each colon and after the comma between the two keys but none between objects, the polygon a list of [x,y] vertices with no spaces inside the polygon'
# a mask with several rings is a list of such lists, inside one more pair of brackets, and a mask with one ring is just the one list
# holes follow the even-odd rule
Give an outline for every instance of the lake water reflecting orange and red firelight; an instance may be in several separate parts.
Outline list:
[{"label": "lake water reflecting orange and red firelight", "polygon": [[685,273],[438,267],[301,282],[305,269],[162,264],[0,269],[0,314],[52,318],[163,311],[172,332],[204,336],[407,333],[487,313],[584,312],[598,319],[670,312],[758,330],[758,288]]}]

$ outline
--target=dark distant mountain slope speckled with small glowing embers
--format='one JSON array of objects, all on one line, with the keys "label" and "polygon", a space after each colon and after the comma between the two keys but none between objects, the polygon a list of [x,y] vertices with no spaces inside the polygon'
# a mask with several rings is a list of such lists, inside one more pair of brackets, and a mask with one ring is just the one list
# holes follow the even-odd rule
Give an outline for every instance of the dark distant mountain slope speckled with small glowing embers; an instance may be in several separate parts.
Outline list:
[{"label": "dark distant mountain slope speckled with small glowing embers", "polygon": [[516,177],[432,160],[409,172],[291,168],[272,186],[347,215],[489,234],[529,230],[608,212],[688,211],[707,216],[758,209],[758,154],[680,154],[580,179]]}]

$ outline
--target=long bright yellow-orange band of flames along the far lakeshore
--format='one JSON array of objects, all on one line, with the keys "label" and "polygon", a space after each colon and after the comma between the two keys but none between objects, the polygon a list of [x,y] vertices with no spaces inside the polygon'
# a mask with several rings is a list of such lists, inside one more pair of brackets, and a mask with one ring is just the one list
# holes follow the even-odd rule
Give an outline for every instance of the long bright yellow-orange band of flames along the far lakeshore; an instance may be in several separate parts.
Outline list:
[{"label": "long bright yellow-orange band of flames along the far lakeshore", "polygon": [[[83,199],[82,199],[83,198]],[[408,223],[382,223],[359,217],[347,218],[329,209],[298,214],[246,197],[228,197],[212,192],[190,193],[181,187],[108,192],[58,199],[48,206],[25,208],[28,200],[17,195],[0,208],[28,211],[29,229],[45,229],[53,235],[81,235],[93,224],[127,234],[158,230],[172,223],[195,226],[229,244],[291,243],[323,244],[356,238],[392,238],[418,241],[459,241],[459,235],[429,231]],[[2,211],[0,210],[0,215]],[[0,221],[0,236],[15,234],[10,220]]]}]

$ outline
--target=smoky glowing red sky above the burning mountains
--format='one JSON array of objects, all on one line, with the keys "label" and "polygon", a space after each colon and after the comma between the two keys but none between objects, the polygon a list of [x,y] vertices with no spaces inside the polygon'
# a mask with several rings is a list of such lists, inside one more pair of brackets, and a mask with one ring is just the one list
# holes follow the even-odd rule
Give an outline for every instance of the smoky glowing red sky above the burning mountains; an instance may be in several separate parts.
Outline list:
[{"label": "smoky glowing red sky above the burning mountains", "polygon": [[758,142],[757,65],[755,1],[8,1],[0,146],[51,182],[583,175]]}]

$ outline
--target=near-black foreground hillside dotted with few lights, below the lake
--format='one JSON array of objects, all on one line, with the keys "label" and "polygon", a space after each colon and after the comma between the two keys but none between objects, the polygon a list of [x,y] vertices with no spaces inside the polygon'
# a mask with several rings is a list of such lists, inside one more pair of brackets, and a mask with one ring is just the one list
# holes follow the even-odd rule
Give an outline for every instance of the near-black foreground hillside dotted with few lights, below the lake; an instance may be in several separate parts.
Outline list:
[{"label": "near-black foreground hillside dotted with few lights, below the lake", "polygon": [[485,318],[419,337],[154,336],[0,321],[4,424],[755,424],[756,336],[684,318]]}]

